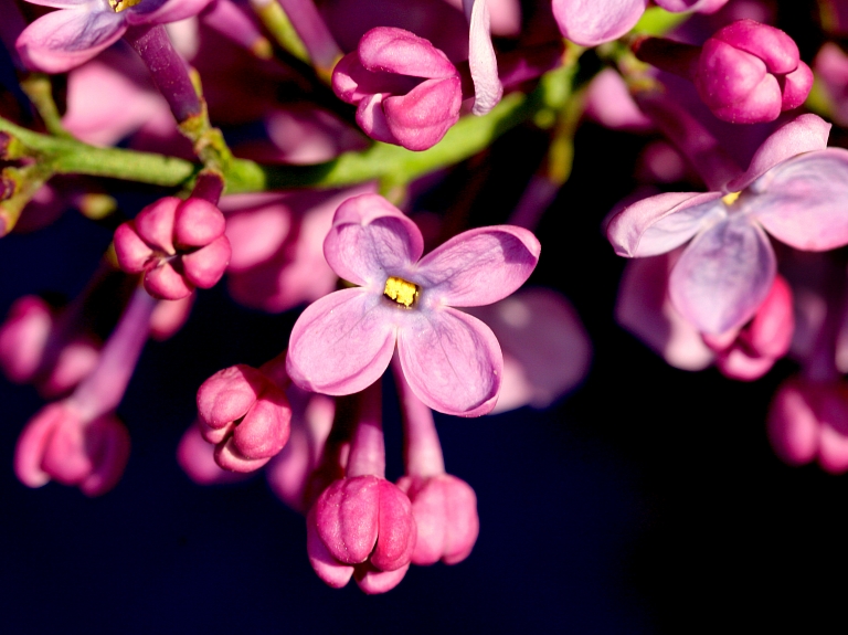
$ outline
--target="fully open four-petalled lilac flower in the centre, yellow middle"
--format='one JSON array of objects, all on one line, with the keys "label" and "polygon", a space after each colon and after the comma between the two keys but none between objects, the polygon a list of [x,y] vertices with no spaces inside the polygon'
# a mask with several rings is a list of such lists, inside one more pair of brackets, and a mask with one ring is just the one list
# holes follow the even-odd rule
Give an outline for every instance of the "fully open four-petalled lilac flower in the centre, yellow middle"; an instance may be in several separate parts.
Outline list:
[{"label": "fully open four-petalled lilac flower in the centre, yellow middle", "polygon": [[505,298],[530,276],[540,248],[529,231],[499,225],[464,232],[421,258],[421,231],[398,208],[375,194],[348,199],[324,252],[340,277],[359,286],[301,314],[289,377],[305,390],[352,394],[382,375],[396,342],[404,375],[424,403],[447,414],[486,414],[500,388],[500,347],[487,326],[452,307]]}]

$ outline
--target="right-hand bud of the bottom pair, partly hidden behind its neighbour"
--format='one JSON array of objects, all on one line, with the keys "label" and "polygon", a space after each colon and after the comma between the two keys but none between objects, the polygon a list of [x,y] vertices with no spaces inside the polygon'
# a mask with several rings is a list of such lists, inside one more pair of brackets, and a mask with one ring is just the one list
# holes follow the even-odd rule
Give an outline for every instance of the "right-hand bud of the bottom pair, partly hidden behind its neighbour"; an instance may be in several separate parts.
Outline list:
[{"label": "right-hand bud of the bottom pair, partly hidden behind its neighbour", "polygon": [[418,530],[413,564],[439,560],[456,564],[465,560],[480,531],[477,497],[470,485],[449,474],[439,474],[428,478],[403,476],[398,487],[412,501]]}]

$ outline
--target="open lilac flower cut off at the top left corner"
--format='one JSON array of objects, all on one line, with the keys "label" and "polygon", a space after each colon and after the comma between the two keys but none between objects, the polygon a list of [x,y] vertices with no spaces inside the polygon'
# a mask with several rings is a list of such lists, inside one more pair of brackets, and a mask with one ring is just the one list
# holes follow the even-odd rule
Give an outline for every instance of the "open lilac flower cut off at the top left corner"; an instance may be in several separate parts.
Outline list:
[{"label": "open lilac flower cut off at the top left corner", "polygon": [[130,27],[197,15],[212,0],[26,0],[59,11],[35,20],[20,38],[26,66],[64,73],[117,42]]}]

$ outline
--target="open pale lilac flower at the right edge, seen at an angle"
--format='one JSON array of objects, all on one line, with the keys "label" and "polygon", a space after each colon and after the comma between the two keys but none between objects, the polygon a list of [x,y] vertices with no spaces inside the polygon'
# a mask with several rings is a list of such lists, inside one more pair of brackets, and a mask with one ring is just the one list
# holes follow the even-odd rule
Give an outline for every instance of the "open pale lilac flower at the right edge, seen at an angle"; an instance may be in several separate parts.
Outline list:
[{"label": "open pale lilac flower at the right edge, seen at an angle", "polygon": [[798,250],[848,243],[848,151],[826,148],[829,129],[815,115],[797,117],[768,137],[723,191],[644,199],[612,220],[610,241],[627,257],[691,241],[669,276],[674,306],[704,334],[744,325],[774,282],[765,231]]}]

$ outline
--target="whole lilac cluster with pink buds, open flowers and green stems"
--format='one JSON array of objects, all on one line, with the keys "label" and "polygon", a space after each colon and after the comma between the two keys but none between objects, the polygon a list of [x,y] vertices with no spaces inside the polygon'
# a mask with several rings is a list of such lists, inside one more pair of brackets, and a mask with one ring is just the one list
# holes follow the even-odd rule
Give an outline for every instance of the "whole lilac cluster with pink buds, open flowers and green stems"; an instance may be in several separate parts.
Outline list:
[{"label": "whole lilac cluster with pink buds, open flowers and green stems", "polygon": [[[844,33],[844,2],[827,3],[827,36]],[[666,138],[645,144],[643,189],[605,222],[635,260],[618,321],[672,366],[733,380],[793,357],[801,372],[768,415],[775,453],[848,470],[848,150],[828,147],[822,116],[848,123],[837,43],[818,52],[810,97],[806,44],[729,0],[364,4],[0,0],[14,65],[0,74],[0,234],[68,208],[115,230],[76,298],[23,296],[0,325],[0,370],[53,400],[19,437],[24,485],[116,486],[130,447],[116,411],[145,342],[176,332],[197,289],[227,274],[247,308],[300,313],[262,367],[205,370],[178,449],[189,476],[264,472],[305,516],[330,586],[382,593],[412,564],[463,561],[477,500],[446,472],[433,411],[547,408],[589,369],[576,311],[521,289],[584,119]],[[479,166],[509,152],[475,156],[527,129],[544,156],[527,152],[526,170],[510,156],[523,189],[487,203],[511,215],[478,210],[501,173]],[[121,181],[156,190],[124,197]],[[390,367],[405,444],[395,483]]]}]

